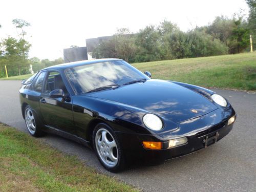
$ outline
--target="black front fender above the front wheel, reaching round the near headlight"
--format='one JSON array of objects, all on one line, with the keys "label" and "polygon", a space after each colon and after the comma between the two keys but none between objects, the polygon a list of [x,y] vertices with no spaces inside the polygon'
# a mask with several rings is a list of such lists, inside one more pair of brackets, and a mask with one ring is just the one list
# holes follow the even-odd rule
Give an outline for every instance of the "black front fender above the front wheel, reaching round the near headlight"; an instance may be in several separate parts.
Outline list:
[{"label": "black front fender above the front wheel, reaching round the near headlight", "polygon": [[[130,105],[113,102],[90,96],[73,97],[74,123],[78,129],[78,135],[88,139],[90,122],[101,120],[113,127],[114,131],[134,134],[156,135],[161,131],[153,131],[145,127],[143,116],[149,113],[145,110]],[[164,131],[175,130],[177,124],[163,119]]]}]

